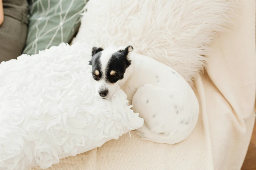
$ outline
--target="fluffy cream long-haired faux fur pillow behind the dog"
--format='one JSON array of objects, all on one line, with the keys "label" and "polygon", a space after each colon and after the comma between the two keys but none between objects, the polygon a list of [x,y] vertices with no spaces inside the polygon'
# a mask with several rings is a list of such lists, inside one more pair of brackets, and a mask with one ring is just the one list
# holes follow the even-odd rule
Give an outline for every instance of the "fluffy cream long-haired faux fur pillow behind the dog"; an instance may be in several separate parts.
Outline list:
[{"label": "fluffy cream long-haired faux fur pillow behind the dog", "polygon": [[187,82],[205,64],[209,45],[242,0],[90,0],[73,42],[133,45],[135,52],[172,66]]}]

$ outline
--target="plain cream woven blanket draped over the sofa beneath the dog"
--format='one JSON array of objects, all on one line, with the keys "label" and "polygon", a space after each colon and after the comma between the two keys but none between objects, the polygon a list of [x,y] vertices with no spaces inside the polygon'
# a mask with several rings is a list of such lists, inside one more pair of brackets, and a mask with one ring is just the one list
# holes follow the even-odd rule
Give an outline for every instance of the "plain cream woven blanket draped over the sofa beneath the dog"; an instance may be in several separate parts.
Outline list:
[{"label": "plain cream woven blanket draped over the sofa beneath the dog", "polygon": [[[244,1],[238,26],[219,36],[195,89],[199,120],[175,144],[141,140],[135,132],[60,160],[49,170],[240,169],[255,119],[255,1]],[[39,167],[31,170],[40,170]]]}]

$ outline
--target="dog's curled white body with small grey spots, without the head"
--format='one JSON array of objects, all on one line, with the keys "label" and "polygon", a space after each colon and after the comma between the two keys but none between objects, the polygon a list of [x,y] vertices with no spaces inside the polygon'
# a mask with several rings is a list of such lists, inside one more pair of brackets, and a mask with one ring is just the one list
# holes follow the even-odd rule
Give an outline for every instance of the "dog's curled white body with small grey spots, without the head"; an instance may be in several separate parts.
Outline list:
[{"label": "dog's curled white body with small grey spots, without the head", "polygon": [[[144,119],[138,132],[145,140],[175,144],[187,138],[198,119],[195,93],[171,67],[144,55],[131,53],[121,89],[134,112]],[[130,74],[129,76],[126,74]]]}]

